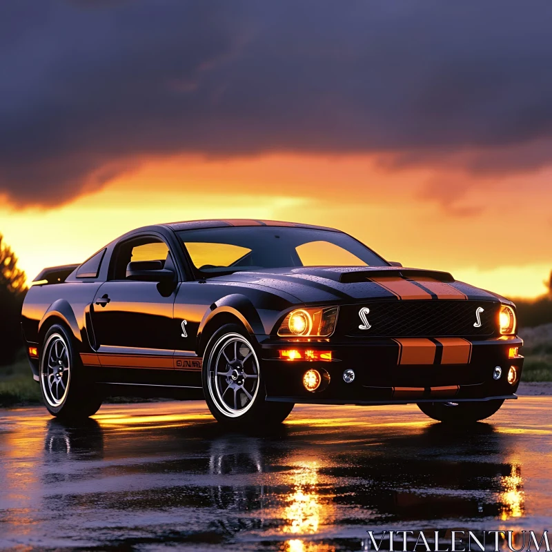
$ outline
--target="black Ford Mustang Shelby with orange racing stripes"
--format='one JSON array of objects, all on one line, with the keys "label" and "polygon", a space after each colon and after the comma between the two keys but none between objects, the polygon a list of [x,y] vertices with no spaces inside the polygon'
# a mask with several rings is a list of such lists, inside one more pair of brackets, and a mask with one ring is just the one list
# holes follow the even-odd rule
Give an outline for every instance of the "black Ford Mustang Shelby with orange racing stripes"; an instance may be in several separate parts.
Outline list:
[{"label": "black Ford Mustang Shelby with orange racing stripes", "polygon": [[46,408],[70,419],[137,395],[205,398],[235,425],[295,403],[416,403],[460,424],[517,398],[523,364],[504,297],[275,221],[132,230],[43,270],[22,326]]}]

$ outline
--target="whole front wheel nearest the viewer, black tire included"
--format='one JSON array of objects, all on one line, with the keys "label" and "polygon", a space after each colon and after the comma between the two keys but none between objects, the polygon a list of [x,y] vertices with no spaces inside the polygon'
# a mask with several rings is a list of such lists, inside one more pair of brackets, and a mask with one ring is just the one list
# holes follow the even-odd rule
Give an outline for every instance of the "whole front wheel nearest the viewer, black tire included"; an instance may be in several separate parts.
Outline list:
[{"label": "whole front wheel nearest the viewer, black tire included", "polygon": [[202,381],[211,414],[218,422],[234,428],[281,424],[295,406],[265,400],[253,339],[238,324],[225,324],[209,339]]}]

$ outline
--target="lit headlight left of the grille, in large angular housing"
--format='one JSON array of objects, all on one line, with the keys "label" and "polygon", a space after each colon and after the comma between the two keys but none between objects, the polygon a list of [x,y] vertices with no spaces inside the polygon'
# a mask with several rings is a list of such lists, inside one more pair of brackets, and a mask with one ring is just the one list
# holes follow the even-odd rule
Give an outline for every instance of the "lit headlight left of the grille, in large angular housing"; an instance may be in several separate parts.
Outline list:
[{"label": "lit headlight left of the grille, in large angular housing", "polygon": [[297,308],[279,327],[281,337],[329,337],[337,320],[337,306]]}]

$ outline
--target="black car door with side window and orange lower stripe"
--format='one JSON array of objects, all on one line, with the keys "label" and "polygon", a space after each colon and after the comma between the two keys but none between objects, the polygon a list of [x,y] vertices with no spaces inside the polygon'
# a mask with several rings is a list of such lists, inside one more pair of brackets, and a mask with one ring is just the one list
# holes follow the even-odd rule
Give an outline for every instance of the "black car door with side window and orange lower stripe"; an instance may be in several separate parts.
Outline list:
[{"label": "black car door with side window and orange lower stripe", "polygon": [[[175,282],[130,279],[130,262],[172,269]],[[177,289],[172,255],[161,237],[141,235],[117,245],[108,281],[97,290],[93,304],[92,326],[102,366],[172,369]]]}]

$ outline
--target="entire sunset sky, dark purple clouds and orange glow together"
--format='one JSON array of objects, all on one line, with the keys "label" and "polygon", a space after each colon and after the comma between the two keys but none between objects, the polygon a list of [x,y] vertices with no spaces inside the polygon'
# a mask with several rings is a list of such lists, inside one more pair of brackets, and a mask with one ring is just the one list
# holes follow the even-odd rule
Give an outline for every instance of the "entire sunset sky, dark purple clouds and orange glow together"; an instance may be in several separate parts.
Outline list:
[{"label": "entire sunset sky, dark purple clouds and orange glow together", "polygon": [[3,3],[0,233],[32,279],[144,224],[304,221],[540,295],[552,4],[496,6]]}]

